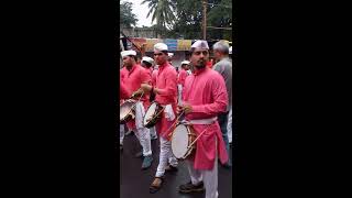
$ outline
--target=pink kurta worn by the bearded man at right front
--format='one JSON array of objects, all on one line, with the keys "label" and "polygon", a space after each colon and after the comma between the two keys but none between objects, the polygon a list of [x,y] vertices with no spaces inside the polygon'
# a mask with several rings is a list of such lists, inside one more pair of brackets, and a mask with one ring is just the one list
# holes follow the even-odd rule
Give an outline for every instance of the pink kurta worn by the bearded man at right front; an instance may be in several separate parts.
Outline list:
[{"label": "pink kurta worn by the bearded man at right front", "polygon": [[[193,107],[193,112],[186,114],[188,121],[209,119],[224,112],[228,94],[222,76],[210,68],[195,72],[186,78],[183,99]],[[207,125],[194,124],[193,128],[199,135]],[[216,158],[216,138],[221,163],[228,161],[220,125],[216,121],[197,141],[196,155],[193,158],[196,169],[212,169]]]}]

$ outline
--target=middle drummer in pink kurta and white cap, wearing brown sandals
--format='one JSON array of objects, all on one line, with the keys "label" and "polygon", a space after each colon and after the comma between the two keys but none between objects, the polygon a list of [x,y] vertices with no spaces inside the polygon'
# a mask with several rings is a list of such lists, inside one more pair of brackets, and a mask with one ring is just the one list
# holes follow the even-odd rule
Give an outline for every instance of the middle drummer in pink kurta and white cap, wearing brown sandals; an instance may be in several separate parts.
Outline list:
[{"label": "middle drummer in pink kurta and white cap, wearing brown sandals", "polygon": [[[164,43],[155,44],[154,61],[158,65],[155,84],[153,84],[153,86],[142,85],[145,91],[154,92],[156,95],[155,101],[165,108],[162,112],[161,120],[155,125],[161,140],[161,154],[155,178],[150,186],[151,194],[161,189],[165,172],[177,170],[177,160],[170,150],[168,135],[173,131],[170,127],[176,118],[177,73],[175,68],[169,65],[167,58],[167,45]],[[169,166],[167,166],[167,163],[169,163]]]}]

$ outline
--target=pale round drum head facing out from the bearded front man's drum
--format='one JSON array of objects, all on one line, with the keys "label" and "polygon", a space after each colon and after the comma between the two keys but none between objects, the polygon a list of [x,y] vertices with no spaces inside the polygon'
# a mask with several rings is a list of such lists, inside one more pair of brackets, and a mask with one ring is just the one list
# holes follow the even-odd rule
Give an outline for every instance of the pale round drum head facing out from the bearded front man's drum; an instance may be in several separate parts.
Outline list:
[{"label": "pale round drum head facing out from the bearded front man's drum", "polygon": [[172,151],[176,158],[183,158],[187,153],[188,129],[184,124],[176,127],[172,139]]}]

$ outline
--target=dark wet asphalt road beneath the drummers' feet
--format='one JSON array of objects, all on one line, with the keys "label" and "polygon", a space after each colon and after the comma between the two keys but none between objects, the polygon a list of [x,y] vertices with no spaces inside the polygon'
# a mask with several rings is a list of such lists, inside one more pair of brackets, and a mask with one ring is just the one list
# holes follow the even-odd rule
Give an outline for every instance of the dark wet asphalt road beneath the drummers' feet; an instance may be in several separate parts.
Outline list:
[{"label": "dark wet asphalt road beneath the drummers' feet", "polygon": [[[178,163],[178,172],[166,174],[163,188],[156,194],[150,194],[148,187],[154,179],[158,164],[160,140],[152,141],[153,164],[146,170],[141,170],[142,158],[134,154],[142,150],[134,135],[124,138],[123,151],[120,152],[120,197],[121,198],[205,198],[204,193],[179,194],[178,186],[190,180],[185,162]],[[232,152],[231,152],[232,153]],[[218,166],[219,198],[232,197],[232,168]]]}]

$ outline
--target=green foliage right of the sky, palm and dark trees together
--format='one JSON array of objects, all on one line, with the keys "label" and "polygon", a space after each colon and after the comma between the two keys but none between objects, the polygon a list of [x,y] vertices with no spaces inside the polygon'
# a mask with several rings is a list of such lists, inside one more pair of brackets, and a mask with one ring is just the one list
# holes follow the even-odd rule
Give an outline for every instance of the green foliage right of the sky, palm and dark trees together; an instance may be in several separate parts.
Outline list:
[{"label": "green foliage right of the sky, palm and dark trees together", "polygon": [[[232,1],[208,0],[207,26],[233,29]],[[144,0],[142,3],[147,3],[148,15],[153,14],[152,20],[156,20],[158,31],[163,32],[163,36],[186,40],[202,37],[201,0]],[[207,29],[207,40],[232,41],[232,31]]]}]

